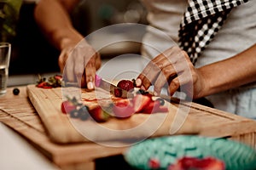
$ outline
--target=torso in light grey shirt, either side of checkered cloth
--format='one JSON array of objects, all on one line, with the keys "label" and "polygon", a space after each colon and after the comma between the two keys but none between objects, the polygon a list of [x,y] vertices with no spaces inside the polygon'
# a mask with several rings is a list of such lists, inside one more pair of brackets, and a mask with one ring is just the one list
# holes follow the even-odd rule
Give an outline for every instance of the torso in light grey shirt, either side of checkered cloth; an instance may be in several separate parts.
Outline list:
[{"label": "torso in light grey shirt, either side of checkered cloth", "polygon": [[[142,54],[154,58],[160,52],[177,45],[179,24],[188,5],[187,0],[141,0],[148,8],[149,27]],[[256,2],[249,1],[233,8],[224,26],[201,54],[196,67],[230,58],[256,42]],[[172,40],[171,40],[172,38]],[[229,43],[230,42],[230,43]]]}]

